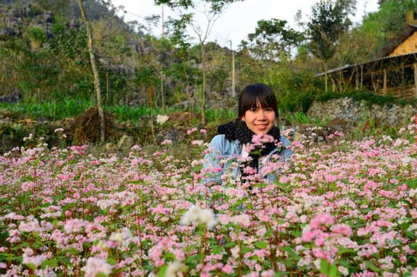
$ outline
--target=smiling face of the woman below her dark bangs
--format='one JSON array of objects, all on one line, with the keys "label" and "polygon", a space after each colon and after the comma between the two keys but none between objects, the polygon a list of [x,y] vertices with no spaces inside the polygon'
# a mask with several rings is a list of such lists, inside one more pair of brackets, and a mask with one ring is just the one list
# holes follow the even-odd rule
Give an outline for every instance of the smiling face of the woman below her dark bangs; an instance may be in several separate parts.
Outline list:
[{"label": "smiling face of the woman below her dark bangs", "polygon": [[274,127],[275,111],[272,108],[263,108],[260,103],[245,112],[241,119],[254,134],[267,134]]}]

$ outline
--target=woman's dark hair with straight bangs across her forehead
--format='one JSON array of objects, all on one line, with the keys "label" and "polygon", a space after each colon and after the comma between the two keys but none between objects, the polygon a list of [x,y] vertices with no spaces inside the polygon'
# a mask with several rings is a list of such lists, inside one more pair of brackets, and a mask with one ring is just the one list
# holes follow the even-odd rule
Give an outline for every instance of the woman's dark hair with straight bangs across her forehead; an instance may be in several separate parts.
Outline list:
[{"label": "woman's dark hair with straight bangs across her forehead", "polygon": [[239,118],[245,116],[246,111],[256,109],[258,104],[261,104],[263,109],[272,108],[275,111],[275,117],[278,118],[277,97],[270,86],[261,83],[243,88],[238,102]]}]

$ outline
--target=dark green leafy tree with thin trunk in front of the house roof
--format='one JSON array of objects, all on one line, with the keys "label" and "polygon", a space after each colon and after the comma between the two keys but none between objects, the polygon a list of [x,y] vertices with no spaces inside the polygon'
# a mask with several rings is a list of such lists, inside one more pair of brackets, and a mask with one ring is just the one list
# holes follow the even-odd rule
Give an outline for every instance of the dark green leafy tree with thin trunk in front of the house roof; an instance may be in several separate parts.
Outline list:
[{"label": "dark green leafy tree with thin trunk in front of the house roof", "polygon": [[325,90],[327,92],[327,61],[336,51],[336,46],[352,22],[349,15],[355,10],[356,0],[320,0],[311,7],[307,31],[311,53],[325,65]]}]

